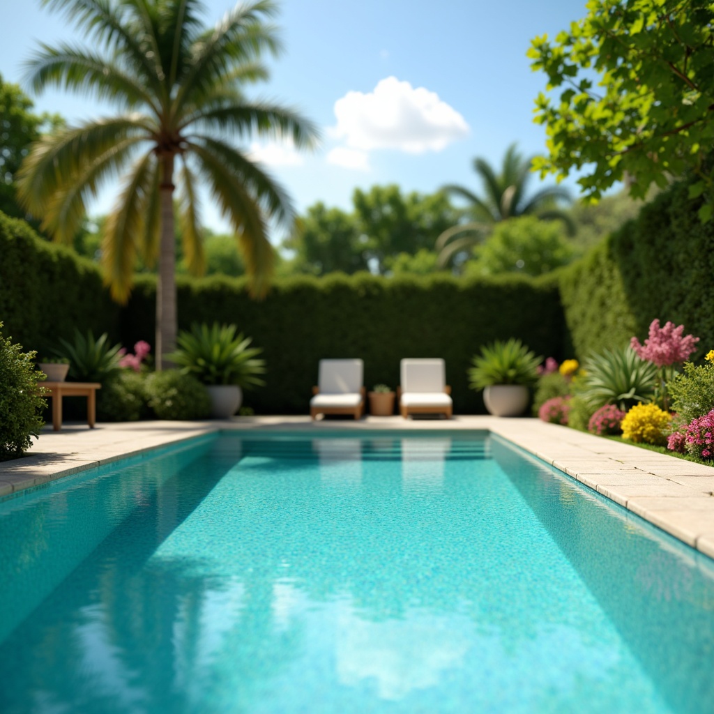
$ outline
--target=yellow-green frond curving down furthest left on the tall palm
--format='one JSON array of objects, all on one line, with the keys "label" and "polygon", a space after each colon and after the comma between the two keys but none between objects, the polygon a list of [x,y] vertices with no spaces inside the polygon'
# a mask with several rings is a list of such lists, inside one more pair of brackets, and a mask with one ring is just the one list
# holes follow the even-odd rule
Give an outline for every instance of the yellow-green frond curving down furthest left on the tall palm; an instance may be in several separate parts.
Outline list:
[{"label": "yellow-green frond curving down furthest left on the tall palm", "polygon": [[125,141],[139,143],[150,136],[151,127],[139,114],[99,119],[43,136],[18,171],[18,196],[31,213],[43,216],[54,194],[75,181],[87,164]]}]

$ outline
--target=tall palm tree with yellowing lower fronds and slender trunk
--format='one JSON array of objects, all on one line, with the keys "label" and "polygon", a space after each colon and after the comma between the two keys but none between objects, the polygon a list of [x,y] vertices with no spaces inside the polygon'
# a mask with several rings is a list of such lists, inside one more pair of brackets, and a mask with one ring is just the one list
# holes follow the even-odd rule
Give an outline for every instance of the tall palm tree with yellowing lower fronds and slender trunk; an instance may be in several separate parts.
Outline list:
[{"label": "tall palm tree with yellowing lower fronds and slender trunk", "polygon": [[[265,293],[274,252],[270,219],[290,223],[291,203],[231,139],[251,132],[312,146],[313,124],[291,109],[248,101],[246,84],[267,78],[261,55],[276,54],[266,20],[272,0],[238,5],[203,29],[201,0],[41,0],[74,21],[87,46],[42,45],[27,65],[35,91],[64,87],[119,105],[121,114],[91,119],[34,145],[19,178],[19,195],[57,241],[71,243],[85,203],[102,181],[124,185],[102,243],[106,283],[126,301],[137,256],[159,263],[156,354],[176,342],[174,182],[179,185],[183,251],[193,272],[203,267],[199,182],[236,232],[251,291]],[[162,359],[164,366],[166,360]],[[158,360],[157,360],[158,364]]]}]

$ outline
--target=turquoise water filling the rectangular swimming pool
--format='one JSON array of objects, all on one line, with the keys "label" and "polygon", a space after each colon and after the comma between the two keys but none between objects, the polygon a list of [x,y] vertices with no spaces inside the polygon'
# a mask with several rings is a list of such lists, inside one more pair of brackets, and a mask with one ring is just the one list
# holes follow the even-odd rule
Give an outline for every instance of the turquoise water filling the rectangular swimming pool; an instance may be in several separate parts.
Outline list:
[{"label": "turquoise water filling the rectangular swimming pool", "polygon": [[711,712],[712,565],[496,438],[203,438],[0,501],[0,712]]}]

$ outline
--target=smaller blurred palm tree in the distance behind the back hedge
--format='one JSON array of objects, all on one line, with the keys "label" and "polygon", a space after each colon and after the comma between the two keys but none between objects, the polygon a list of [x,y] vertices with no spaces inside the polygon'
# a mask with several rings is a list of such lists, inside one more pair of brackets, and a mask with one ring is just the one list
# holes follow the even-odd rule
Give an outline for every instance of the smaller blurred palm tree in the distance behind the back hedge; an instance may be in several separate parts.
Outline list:
[{"label": "smaller blurred palm tree in the distance behind the back hedge", "polygon": [[468,222],[448,228],[436,239],[440,267],[446,266],[459,251],[482,241],[496,223],[508,218],[535,215],[544,221],[563,221],[569,233],[574,231],[570,216],[557,208],[559,201],[570,201],[567,189],[548,186],[533,196],[526,195],[532,164],[533,159],[523,159],[516,151],[516,144],[511,144],[498,173],[486,159],[477,157],[473,160],[473,170],[483,183],[483,198],[468,188],[454,184],[441,189],[448,195],[466,199],[469,206],[464,211]]}]

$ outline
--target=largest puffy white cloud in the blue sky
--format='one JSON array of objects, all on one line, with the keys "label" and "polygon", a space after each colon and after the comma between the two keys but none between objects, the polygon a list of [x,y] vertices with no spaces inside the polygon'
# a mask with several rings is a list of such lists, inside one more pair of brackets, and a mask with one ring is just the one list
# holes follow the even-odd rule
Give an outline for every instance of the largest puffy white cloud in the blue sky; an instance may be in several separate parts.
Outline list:
[{"label": "largest puffy white cloud in the blue sky", "polygon": [[396,77],[381,80],[374,91],[350,91],[335,102],[337,126],[331,134],[352,149],[398,149],[409,154],[441,151],[463,139],[463,116],[424,87]]}]

